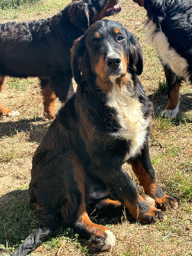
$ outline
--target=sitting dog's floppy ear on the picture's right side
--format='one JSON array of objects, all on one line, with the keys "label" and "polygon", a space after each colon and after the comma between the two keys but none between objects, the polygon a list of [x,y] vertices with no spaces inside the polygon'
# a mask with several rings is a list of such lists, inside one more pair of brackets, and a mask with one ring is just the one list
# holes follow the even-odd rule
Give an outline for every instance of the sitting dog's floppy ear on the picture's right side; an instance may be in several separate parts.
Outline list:
[{"label": "sitting dog's floppy ear on the picture's right side", "polygon": [[138,40],[131,35],[129,39],[129,72],[138,76],[143,72],[143,54]]}]

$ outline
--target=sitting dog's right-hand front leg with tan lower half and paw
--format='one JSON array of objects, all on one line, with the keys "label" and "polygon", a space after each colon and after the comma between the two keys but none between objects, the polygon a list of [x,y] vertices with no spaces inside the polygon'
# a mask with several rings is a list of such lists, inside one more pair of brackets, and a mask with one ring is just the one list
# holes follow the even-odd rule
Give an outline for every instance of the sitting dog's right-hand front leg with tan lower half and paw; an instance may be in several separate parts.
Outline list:
[{"label": "sitting dog's right-hand front leg with tan lower half and paw", "polygon": [[145,147],[141,151],[141,156],[131,161],[131,166],[133,172],[140,180],[145,193],[154,198],[158,208],[166,210],[167,207],[177,207],[177,200],[172,196],[165,195],[163,190],[156,184],[156,175],[150,161],[148,143],[145,143]]}]

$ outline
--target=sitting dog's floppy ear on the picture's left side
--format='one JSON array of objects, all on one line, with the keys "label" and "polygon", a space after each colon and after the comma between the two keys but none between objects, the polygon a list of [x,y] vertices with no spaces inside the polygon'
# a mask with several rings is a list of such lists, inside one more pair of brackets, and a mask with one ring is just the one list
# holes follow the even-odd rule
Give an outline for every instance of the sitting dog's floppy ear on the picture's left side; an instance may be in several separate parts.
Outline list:
[{"label": "sitting dog's floppy ear on the picture's left side", "polygon": [[79,37],[72,46],[71,67],[77,84],[81,82],[81,76],[90,72],[90,59],[86,51],[85,36]]}]

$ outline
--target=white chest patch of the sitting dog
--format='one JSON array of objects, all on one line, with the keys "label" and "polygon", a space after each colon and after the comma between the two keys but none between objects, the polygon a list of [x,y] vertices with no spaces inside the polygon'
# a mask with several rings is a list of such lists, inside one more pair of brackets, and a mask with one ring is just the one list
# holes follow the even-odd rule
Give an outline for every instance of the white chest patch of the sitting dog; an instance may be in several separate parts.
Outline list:
[{"label": "white chest patch of the sitting dog", "polygon": [[145,141],[150,118],[145,120],[141,111],[141,103],[132,97],[126,86],[119,88],[113,84],[113,90],[108,93],[108,105],[117,111],[121,129],[112,136],[122,137],[131,142],[130,151],[125,160],[135,156]]}]

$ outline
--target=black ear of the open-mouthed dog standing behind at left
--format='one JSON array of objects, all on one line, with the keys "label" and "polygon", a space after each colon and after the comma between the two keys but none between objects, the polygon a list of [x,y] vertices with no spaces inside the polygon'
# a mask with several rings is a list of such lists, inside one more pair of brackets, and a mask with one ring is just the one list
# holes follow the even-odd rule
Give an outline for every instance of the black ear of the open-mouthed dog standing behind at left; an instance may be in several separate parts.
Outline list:
[{"label": "black ear of the open-mouthed dog standing behind at left", "polygon": [[70,21],[84,32],[89,28],[88,5],[82,0],[74,1],[65,8]]}]

